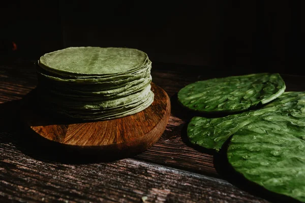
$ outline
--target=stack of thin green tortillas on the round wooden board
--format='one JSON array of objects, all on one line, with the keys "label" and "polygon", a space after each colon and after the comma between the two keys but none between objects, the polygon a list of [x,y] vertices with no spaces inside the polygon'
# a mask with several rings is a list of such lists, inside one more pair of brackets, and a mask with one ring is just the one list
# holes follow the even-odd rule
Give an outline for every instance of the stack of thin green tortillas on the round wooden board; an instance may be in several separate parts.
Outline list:
[{"label": "stack of thin green tortillas on the round wooden board", "polygon": [[154,100],[151,61],[137,49],[70,47],[47,53],[37,65],[40,105],[81,120],[138,113]]}]

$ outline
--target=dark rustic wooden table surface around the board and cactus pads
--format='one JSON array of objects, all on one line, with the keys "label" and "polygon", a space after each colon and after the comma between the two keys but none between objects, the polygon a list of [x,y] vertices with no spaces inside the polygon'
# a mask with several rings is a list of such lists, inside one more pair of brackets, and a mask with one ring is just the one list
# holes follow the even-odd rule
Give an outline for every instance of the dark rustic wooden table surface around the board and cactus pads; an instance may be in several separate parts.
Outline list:
[{"label": "dark rustic wooden table surface around the board and cactus pads", "polygon": [[[159,142],[123,160],[58,161],[56,149],[45,152],[28,140],[18,122],[21,98],[37,84],[33,62],[19,59],[0,65],[0,202],[142,202],[142,197],[147,197],[145,202],[281,200],[242,184],[224,172],[217,154],[188,142],[186,125],[193,115],[177,104],[177,91],[197,80],[234,75],[229,71],[153,63],[153,81],[168,93],[172,105]],[[282,77],[287,91],[305,90],[305,77]]]}]

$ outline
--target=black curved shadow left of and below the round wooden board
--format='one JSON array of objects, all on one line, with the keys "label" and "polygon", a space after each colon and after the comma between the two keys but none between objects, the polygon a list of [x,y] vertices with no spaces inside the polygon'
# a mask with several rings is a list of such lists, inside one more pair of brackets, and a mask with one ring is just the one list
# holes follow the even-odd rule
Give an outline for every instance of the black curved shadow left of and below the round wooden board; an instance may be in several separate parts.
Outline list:
[{"label": "black curved shadow left of and below the round wooden board", "polygon": [[80,149],[79,146],[59,144],[39,136],[20,119],[20,112],[29,108],[28,101],[33,93],[34,90],[23,99],[0,104],[0,142],[12,143],[23,154],[41,161],[84,164],[109,162],[135,155],[132,152],[108,153],[95,147]]}]

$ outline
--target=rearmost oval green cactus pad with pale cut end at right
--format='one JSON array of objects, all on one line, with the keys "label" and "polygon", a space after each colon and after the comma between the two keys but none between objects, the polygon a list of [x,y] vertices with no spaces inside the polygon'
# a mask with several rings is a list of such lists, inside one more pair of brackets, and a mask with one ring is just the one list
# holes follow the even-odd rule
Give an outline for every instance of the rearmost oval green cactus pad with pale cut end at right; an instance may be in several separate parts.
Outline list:
[{"label": "rearmost oval green cactus pad with pale cut end at right", "polygon": [[178,92],[178,100],[193,111],[238,112],[268,103],[279,97],[285,88],[279,74],[215,78],[187,85]]}]

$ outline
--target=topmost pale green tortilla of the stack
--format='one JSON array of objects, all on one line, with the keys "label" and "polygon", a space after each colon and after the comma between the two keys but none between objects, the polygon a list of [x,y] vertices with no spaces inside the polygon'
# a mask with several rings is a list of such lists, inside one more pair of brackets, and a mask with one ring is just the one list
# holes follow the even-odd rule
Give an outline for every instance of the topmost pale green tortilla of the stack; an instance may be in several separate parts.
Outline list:
[{"label": "topmost pale green tortilla of the stack", "polygon": [[141,69],[147,60],[137,49],[70,47],[44,54],[39,66],[64,75],[121,75]]}]

